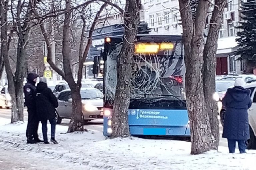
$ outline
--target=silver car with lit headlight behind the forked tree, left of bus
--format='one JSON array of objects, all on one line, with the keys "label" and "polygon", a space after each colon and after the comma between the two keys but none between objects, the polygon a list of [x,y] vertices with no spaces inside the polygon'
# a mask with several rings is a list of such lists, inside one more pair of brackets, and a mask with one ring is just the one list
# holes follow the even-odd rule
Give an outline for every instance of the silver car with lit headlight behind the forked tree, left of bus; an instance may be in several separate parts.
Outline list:
[{"label": "silver car with lit headlight behind the forked tree, left of bus", "polygon": [[[94,119],[103,119],[103,94],[95,88],[81,88],[82,113],[84,123]],[[71,119],[72,117],[72,98],[70,89],[61,91],[57,97],[59,107],[57,112],[61,123],[63,118]]]}]

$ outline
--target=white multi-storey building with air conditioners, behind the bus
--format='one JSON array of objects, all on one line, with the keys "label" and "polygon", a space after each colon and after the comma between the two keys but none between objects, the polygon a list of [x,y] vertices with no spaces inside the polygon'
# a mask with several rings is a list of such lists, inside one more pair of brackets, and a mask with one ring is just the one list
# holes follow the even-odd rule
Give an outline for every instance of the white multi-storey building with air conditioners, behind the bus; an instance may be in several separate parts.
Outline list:
[{"label": "white multi-storey building with air conditioners, behind the bus", "polygon": [[[223,23],[219,32],[217,50],[217,75],[241,73],[244,63],[237,61],[234,51],[237,49],[235,28],[241,20],[239,6],[241,0],[227,0],[227,6],[223,13]],[[178,0],[145,0],[145,22],[152,29],[151,34],[181,35],[179,2]],[[213,8],[211,8],[213,9]],[[210,21],[210,16],[208,17]],[[207,34],[206,26],[205,33]]]}]

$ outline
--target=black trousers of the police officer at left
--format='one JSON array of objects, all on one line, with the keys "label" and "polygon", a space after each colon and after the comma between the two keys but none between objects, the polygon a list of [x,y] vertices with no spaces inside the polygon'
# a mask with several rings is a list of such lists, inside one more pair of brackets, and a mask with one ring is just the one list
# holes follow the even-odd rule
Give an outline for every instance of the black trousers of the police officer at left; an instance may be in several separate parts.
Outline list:
[{"label": "black trousers of the police officer at left", "polygon": [[27,138],[38,139],[38,125],[39,121],[36,116],[36,109],[28,108],[28,125],[26,130]]}]

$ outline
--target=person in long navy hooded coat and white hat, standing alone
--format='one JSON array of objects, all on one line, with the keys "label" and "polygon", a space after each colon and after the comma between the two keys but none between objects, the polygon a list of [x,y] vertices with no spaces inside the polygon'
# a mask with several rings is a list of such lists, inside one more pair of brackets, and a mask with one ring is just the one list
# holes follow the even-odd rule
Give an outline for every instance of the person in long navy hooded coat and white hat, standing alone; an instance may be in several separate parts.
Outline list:
[{"label": "person in long navy hooded coat and white hat, standing alone", "polygon": [[246,153],[246,140],[250,139],[247,110],[251,107],[251,91],[243,88],[244,81],[236,79],[235,87],[228,89],[222,100],[224,115],[223,138],[228,139],[229,153],[235,153],[236,142],[240,153]]}]

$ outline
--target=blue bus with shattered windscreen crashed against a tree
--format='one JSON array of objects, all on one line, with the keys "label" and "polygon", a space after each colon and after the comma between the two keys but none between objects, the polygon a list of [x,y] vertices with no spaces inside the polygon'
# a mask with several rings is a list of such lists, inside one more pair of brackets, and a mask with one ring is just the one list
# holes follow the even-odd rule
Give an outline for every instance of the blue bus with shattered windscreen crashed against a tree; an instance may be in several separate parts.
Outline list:
[{"label": "blue bus with shattered windscreen crashed against a tree", "polygon": [[[190,136],[181,36],[137,35],[132,63],[128,124],[131,135]],[[103,134],[112,133],[117,60],[123,36],[106,37],[104,51]]]}]

